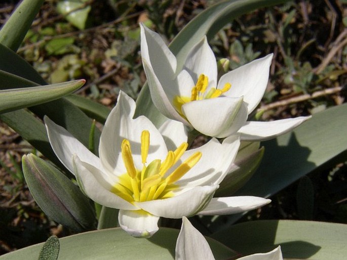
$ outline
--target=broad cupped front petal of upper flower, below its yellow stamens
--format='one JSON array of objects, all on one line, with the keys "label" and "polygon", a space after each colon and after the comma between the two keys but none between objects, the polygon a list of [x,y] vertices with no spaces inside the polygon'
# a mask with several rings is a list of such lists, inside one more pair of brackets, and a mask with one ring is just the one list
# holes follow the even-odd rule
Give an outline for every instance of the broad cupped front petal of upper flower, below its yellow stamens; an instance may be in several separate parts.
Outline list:
[{"label": "broad cupped front petal of upper flower, below its yellow stamens", "polygon": [[197,131],[219,138],[235,134],[248,116],[242,97],[192,101],[182,106],[182,112]]}]

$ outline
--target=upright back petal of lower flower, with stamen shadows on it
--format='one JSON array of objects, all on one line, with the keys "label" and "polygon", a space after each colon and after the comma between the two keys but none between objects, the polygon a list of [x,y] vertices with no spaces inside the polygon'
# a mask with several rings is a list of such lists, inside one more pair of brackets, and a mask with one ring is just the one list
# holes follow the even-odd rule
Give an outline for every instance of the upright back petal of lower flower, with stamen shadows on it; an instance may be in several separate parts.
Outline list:
[{"label": "upright back petal of lower flower, with stamen shadows on it", "polygon": [[139,116],[132,119],[135,110],[135,102],[124,92],[121,92],[117,105],[112,109],[101,133],[99,155],[104,167],[115,174],[126,172],[121,154],[121,144],[128,139],[135,166],[142,168],[141,162],[141,133],[149,131],[150,147],[147,160],[164,159],[167,149],[163,137],[152,122]]}]

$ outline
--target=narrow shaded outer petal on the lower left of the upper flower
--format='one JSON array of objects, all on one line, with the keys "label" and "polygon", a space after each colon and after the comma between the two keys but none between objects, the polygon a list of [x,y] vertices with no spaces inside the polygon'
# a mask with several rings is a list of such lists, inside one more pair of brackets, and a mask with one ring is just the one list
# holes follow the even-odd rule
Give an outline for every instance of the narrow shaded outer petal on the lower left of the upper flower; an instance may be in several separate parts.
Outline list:
[{"label": "narrow shaded outer petal on the lower left of the upper flower", "polygon": [[[148,81],[150,97],[156,108],[166,117],[180,121],[185,125],[190,126],[189,122],[185,120],[172,105],[173,97],[175,96],[174,93],[179,93],[177,78],[172,79],[172,81],[175,81],[177,85],[170,88],[172,83],[168,85],[159,81],[157,75],[145,60],[143,60],[143,68]],[[169,88],[166,88],[164,91],[164,86],[168,86]],[[172,96],[172,98],[170,99],[168,96]]]}]

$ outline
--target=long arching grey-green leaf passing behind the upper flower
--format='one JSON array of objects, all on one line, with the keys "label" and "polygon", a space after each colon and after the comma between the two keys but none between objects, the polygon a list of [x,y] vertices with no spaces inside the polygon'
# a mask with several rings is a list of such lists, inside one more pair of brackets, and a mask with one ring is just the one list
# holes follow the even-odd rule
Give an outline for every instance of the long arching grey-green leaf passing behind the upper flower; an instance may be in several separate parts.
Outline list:
[{"label": "long arching grey-green leaf passing behind the upper flower", "polygon": [[[223,26],[235,18],[255,9],[284,3],[285,0],[230,0],[219,2],[201,12],[192,19],[173,39],[170,44],[172,53],[177,58],[177,71],[183,66],[189,50],[199,42],[204,35],[211,39]],[[148,85],[141,89],[136,101],[135,117],[147,116],[156,126],[160,126],[165,117],[153,105]]]}]

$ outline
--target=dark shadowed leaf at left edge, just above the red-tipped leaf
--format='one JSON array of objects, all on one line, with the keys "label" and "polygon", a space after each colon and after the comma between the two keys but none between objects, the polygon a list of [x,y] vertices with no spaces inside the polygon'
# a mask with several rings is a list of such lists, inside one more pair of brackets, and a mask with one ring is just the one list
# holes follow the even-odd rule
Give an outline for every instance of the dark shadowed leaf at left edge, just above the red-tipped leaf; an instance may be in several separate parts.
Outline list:
[{"label": "dark shadowed leaf at left edge, just above the red-tipped leaf", "polygon": [[[10,50],[6,46],[0,44],[0,70],[6,71],[8,73],[20,76],[29,81],[35,82],[38,85],[46,85],[46,81],[41,77],[38,72],[31,67],[22,57],[16,54],[14,51]],[[3,84],[3,76],[0,75],[0,79]],[[32,86],[32,85],[30,85]],[[23,85],[17,86],[17,88],[22,88]]]}]

